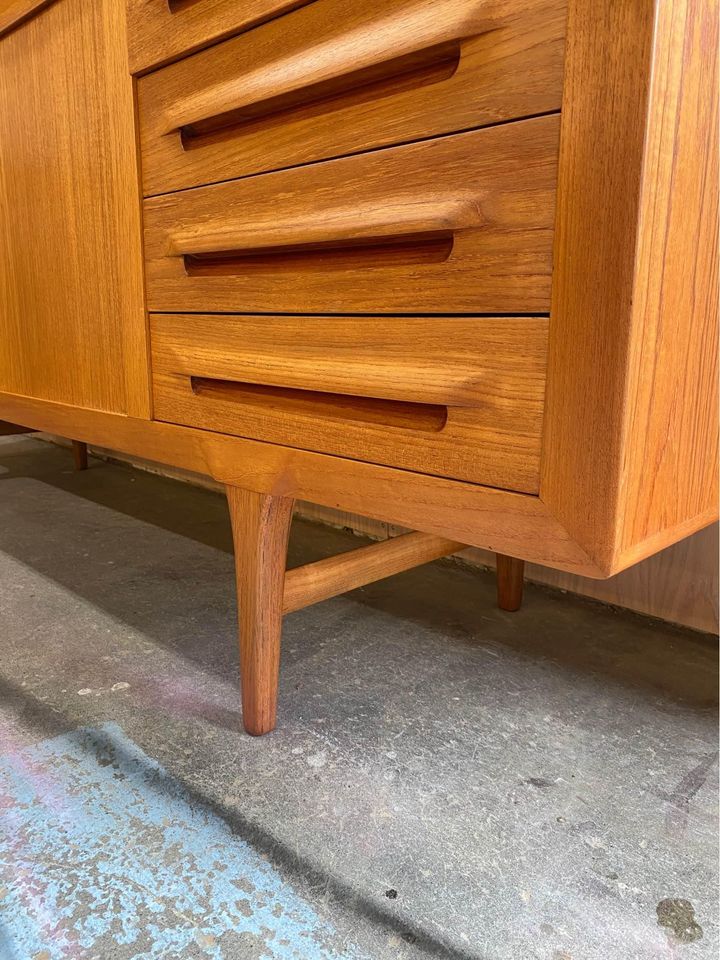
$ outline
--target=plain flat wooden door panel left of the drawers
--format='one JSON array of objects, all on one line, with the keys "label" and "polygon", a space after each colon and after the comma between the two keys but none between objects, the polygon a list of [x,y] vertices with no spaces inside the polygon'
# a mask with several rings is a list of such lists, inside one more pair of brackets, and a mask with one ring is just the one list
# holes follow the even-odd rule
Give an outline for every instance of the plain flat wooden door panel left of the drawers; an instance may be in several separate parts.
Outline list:
[{"label": "plain flat wooden door panel left of the drawers", "polygon": [[122,0],[0,38],[0,390],[149,415]]}]

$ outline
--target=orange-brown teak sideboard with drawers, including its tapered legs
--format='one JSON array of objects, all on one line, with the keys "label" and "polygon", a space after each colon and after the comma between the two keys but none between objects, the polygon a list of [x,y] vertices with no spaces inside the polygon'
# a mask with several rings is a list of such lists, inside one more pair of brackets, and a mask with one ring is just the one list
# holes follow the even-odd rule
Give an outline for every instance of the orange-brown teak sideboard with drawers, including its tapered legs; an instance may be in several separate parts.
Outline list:
[{"label": "orange-brown teak sideboard with drawers, including its tapered legs", "polygon": [[[282,618],[717,518],[717,0],[0,0],[0,418],[211,475]],[[287,572],[303,499],[417,532]]]}]

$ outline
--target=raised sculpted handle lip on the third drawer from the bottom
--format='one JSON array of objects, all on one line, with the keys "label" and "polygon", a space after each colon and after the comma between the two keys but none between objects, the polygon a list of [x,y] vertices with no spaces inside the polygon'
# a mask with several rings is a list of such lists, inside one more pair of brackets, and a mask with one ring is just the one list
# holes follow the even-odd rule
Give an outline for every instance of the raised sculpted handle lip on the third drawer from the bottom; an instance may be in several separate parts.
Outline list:
[{"label": "raised sculpted handle lip on the third drawer from the bottom", "polygon": [[500,0],[416,0],[388,10],[384,3],[367,3],[344,33],[309,43],[254,70],[240,66],[232,80],[175,101],[165,111],[161,131],[175,133],[217,115],[475,36],[497,27],[507,15],[506,6]]}]

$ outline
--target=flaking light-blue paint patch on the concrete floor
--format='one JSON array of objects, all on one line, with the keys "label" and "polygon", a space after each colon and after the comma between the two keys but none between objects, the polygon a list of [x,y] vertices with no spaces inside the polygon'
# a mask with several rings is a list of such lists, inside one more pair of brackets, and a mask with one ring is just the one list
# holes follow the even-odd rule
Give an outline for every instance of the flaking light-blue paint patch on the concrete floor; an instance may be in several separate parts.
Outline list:
[{"label": "flaking light-blue paint patch on the concrete floor", "polygon": [[0,958],[185,956],[360,960],[116,725],[4,757]]}]

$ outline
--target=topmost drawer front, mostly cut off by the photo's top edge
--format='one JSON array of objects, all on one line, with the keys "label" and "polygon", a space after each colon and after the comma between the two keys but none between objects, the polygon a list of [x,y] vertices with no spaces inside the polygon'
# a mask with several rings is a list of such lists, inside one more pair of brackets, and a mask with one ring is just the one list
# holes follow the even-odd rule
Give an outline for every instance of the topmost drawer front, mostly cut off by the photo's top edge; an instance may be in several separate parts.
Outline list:
[{"label": "topmost drawer front, mostly cut off by the photo's top edge", "polygon": [[127,0],[130,71],[199,50],[309,0]]}]

